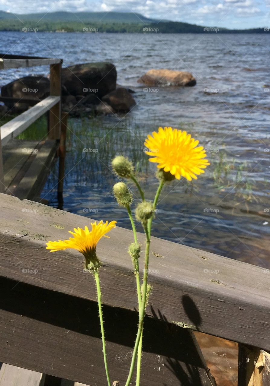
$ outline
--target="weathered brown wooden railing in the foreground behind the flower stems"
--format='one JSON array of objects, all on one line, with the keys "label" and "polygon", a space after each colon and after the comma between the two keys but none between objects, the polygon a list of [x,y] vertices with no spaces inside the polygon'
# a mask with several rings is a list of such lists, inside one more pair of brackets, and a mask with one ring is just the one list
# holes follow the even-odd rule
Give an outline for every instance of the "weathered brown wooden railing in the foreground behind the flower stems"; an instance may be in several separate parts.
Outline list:
[{"label": "weathered brown wooden railing in the foreground behind the flower stems", "polygon": [[[0,207],[0,361],[106,384],[94,280],[84,273],[79,252],[45,249],[47,240],[65,239],[68,230],[90,220],[3,194]],[[139,239],[143,244],[143,235]],[[109,369],[121,385],[138,321],[130,242],[132,232],[116,227],[98,245]],[[247,385],[260,349],[270,350],[269,273],[153,238],[149,279],[142,386],[213,384],[195,352],[192,330],[239,342],[239,385]],[[249,361],[254,346],[259,349]]]}]

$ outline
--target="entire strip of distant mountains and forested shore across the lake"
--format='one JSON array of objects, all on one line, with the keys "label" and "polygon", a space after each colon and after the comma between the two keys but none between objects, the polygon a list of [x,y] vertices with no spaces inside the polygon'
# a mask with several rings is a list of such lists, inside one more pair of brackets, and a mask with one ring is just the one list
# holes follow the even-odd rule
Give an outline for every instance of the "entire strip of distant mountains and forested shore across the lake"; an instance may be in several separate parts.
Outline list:
[{"label": "entire strip of distant mountains and forested shore across the lake", "polygon": [[149,19],[133,12],[48,12],[39,14],[12,14],[0,10],[0,31],[26,31],[37,29],[37,32],[105,32],[105,33],[144,33],[163,34],[261,34],[268,28],[227,29],[203,27],[202,25],[170,20]]}]

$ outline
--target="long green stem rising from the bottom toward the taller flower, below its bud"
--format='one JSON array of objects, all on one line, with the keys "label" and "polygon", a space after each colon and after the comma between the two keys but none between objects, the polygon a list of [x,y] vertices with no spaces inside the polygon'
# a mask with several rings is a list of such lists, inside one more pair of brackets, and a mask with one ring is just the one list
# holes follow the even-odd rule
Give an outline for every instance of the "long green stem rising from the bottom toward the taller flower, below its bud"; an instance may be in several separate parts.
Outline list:
[{"label": "long green stem rising from the bottom toward the taller flower, below its bud", "polygon": [[[126,381],[125,386],[128,386],[130,384],[130,381],[132,378],[132,374],[133,374],[134,366],[135,366],[135,360],[136,360],[137,353],[138,353],[138,347],[139,347],[140,339],[141,339],[141,335],[142,335],[142,329],[143,329],[143,325],[144,325],[147,278],[148,278],[148,265],[149,265],[149,250],[150,250],[150,239],[149,239],[147,227],[145,227],[145,234],[146,234],[146,247],[145,247],[145,262],[144,262],[144,283],[143,283],[143,290],[142,290],[142,303],[141,303],[141,307],[140,307],[140,319],[139,319],[138,332],[137,332],[137,337],[135,340],[135,345],[134,345],[134,350],[133,350],[133,355],[132,355],[132,360],[131,360],[131,365],[130,365],[130,371],[128,373],[128,379]],[[145,286],[145,283],[146,283],[146,286]]]}]

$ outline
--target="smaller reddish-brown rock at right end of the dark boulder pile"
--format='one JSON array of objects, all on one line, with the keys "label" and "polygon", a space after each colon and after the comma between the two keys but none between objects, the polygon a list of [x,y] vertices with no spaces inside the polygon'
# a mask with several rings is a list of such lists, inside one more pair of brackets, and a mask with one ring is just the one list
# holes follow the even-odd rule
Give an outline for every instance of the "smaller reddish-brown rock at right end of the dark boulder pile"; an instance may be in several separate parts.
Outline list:
[{"label": "smaller reddish-brown rock at right end of the dark boulder pile", "polygon": [[111,91],[102,98],[103,102],[108,103],[116,112],[129,112],[132,106],[136,104],[132,95],[124,87]]}]

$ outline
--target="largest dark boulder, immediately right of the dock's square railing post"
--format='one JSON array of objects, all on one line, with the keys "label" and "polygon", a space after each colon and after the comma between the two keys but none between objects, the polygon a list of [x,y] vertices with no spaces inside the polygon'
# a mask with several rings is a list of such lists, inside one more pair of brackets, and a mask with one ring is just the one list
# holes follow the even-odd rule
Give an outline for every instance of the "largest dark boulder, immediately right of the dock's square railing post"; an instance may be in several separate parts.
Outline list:
[{"label": "largest dark boulder, immediately right of the dock's square railing post", "polygon": [[62,69],[62,83],[71,95],[96,94],[102,98],[116,88],[116,68],[112,63],[84,63]]}]

